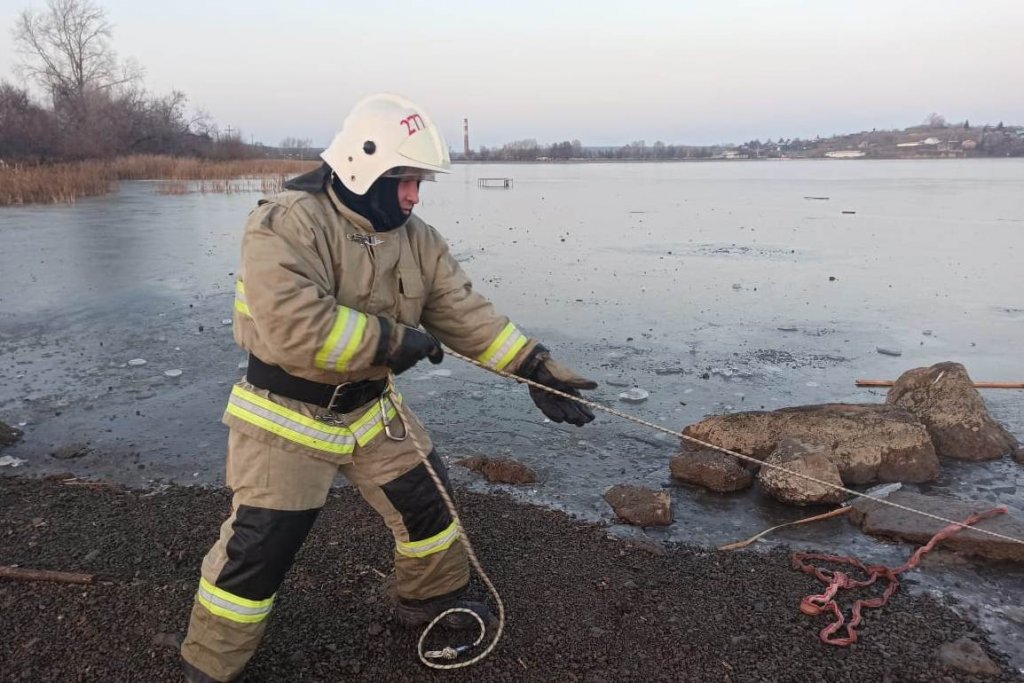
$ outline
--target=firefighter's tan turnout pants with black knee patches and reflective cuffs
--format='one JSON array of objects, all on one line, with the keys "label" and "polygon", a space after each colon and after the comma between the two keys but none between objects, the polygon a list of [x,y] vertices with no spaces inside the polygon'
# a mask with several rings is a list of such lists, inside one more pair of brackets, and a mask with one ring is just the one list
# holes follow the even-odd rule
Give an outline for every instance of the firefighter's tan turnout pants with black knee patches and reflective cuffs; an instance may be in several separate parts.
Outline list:
[{"label": "firefighter's tan turnout pants with black knee patches and reflective cuffs", "polygon": [[[408,428],[447,485],[430,437],[406,409]],[[398,430],[400,426],[393,425]],[[336,465],[258,441],[232,429],[227,447],[231,515],[203,560],[181,656],[216,681],[236,679],[256,651],[273,597],[338,471],[384,518],[395,540],[398,597],[423,600],[469,582],[466,551],[413,438],[382,435]],[[325,568],[326,571],[330,570]]]}]

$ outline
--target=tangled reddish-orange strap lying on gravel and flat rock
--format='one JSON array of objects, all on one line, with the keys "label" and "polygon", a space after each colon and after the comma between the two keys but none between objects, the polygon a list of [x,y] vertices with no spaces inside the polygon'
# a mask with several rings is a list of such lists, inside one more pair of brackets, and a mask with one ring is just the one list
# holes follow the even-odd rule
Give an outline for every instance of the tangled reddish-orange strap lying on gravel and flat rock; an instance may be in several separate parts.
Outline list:
[{"label": "tangled reddish-orange strap lying on gravel and flat rock", "polygon": [[[910,559],[908,559],[902,566],[895,568],[887,567],[884,564],[865,565],[856,557],[822,555],[818,553],[794,553],[793,568],[812,574],[822,584],[827,586],[824,593],[809,595],[801,600],[800,611],[813,616],[830,610],[836,616],[836,621],[821,629],[821,632],[818,634],[818,637],[821,638],[821,642],[829,645],[840,645],[842,647],[855,643],[857,642],[857,627],[860,626],[862,618],[861,610],[865,607],[869,609],[877,609],[889,602],[889,599],[899,589],[899,580],[896,578],[898,574],[918,566],[925,553],[931,551],[939,543],[957,533],[966,526],[977,524],[984,519],[988,519],[996,515],[1006,514],[1006,512],[1007,508],[1005,507],[993,508],[991,510],[986,510],[985,512],[977,512],[965,519],[961,524],[950,524],[949,526],[946,526],[944,529],[932,537],[932,540],[929,541],[927,545],[919,548],[913,555],[910,556]],[[836,564],[849,564],[863,571],[867,575],[867,579],[854,579],[843,571],[821,569],[813,564],[808,564],[805,560],[820,560],[822,562],[833,562]],[[884,579],[889,582],[885,591],[877,598],[856,600],[853,603],[850,622],[847,624],[846,617],[843,615],[843,610],[836,602],[836,595],[843,589],[870,586],[880,579]],[[846,625],[846,635],[836,636],[836,632],[842,629],[844,625]]]}]

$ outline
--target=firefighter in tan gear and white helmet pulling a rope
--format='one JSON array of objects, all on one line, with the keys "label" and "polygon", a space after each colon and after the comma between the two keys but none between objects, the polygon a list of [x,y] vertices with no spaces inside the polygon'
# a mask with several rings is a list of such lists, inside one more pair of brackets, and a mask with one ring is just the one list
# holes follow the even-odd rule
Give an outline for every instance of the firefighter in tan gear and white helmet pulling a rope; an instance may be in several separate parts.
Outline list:
[{"label": "firefighter in tan gear and white helmet pulling a rope", "polygon": [[[399,414],[389,374],[440,362],[443,343],[573,395],[597,386],[496,311],[440,233],[413,214],[420,183],[451,166],[422,109],[371,95],[321,157],[246,223],[233,324],[249,365],[223,418],[233,498],[181,644],[189,681],[240,676],[338,471],[394,536],[400,624],[423,626],[454,606],[495,622],[465,595],[466,552],[423,458],[450,486],[446,470],[419,420],[403,405]],[[530,396],[555,422],[594,419],[570,399],[534,387]],[[442,625],[476,621],[460,612]]]}]

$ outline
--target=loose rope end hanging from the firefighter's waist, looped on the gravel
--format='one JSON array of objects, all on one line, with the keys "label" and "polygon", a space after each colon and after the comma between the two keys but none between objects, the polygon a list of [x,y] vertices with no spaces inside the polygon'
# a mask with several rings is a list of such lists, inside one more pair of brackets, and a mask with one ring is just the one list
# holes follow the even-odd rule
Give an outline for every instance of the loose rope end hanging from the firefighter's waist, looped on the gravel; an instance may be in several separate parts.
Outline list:
[{"label": "loose rope end hanging from the firefighter's waist, looped on the gravel", "polygon": [[[393,395],[394,376],[391,375],[391,373],[388,373],[387,382],[388,382],[387,393]],[[458,664],[437,664],[435,661],[431,661],[431,659],[455,659],[463,652],[466,652],[480,644],[480,642],[483,640],[483,637],[486,635],[486,625],[483,623],[483,620],[480,618],[480,615],[474,612],[472,609],[466,609],[464,607],[453,607],[452,609],[446,609],[437,616],[435,616],[433,621],[431,621],[430,624],[426,626],[426,628],[423,630],[423,633],[420,634],[420,640],[416,644],[416,653],[419,655],[420,661],[422,661],[427,667],[430,667],[431,669],[439,669],[439,670],[462,669],[463,667],[469,667],[476,664],[477,661],[480,661],[485,656],[490,654],[490,652],[498,645],[498,641],[501,640],[502,634],[505,632],[505,603],[502,602],[502,596],[498,593],[498,589],[495,588],[495,585],[490,582],[490,578],[487,577],[487,573],[483,570],[483,565],[480,564],[480,560],[477,559],[476,553],[473,551],[473,546],[469,542],[469,537],[466,536],[466,529],[463,528],[462,519],[459,518],[459,513],[455,508],[455,503],[452,502],[452,497],[449,496],[447,489],[444,487],[444,482],[441,481],[440,476],[438,476],[437,472],[434,471],[433,466],[427,459],[427,456],[429,455],[429,450],[424,447],[424,444],[417,435],[416,430],[409,428],[412,419],[409,413],[407,413],[408,409],[406,408],[406,402],[404,401],[391,401],[391,402],[398,411],[398,415],[401,418],[401,422],[406,427],[406,435],[408,435],[410,440],[413,442],[413,447],[416,449],[416,453],[419,454],[420,459],[423,461],[423,464],[427,466],[427,472],[430,474],[430,478],[433,480],[434,485],[437,486],[437,490],[438,493],[440,493],[441,499],[443,499],[444,501],[444,507],[447,508],[449,514],[452,515],[453,521],[455,521],[456,525],[459,528],[459,541],[462,543],[463,546],[466,547],[466,554],[469,556],[470,563],[473,565],[473,568],[476,569],[476,572],[480,575],[480,579],[487,587],[487,590],[490,592],[490,595],[494,596],[495,602],[498,605],[498,629],[495,631],[495,636],[492,639],[490,644],[487,645],[486,649],[484,649],[482,652],[474,656],[472,659],[467,659],[466,661],[460,661]],[[479,624],[480,634],[476,637],[476,640],[474,640],[472,644],[469,645],[459,645],[457,647],[447,646],[440,650],[424,651],[423,644],[426,642],[427,635],[433,630],[433,628],[437,626],[449,614],[455,614],[460,612],[471,614],[473,617],[476,618],[477,623]]]}]

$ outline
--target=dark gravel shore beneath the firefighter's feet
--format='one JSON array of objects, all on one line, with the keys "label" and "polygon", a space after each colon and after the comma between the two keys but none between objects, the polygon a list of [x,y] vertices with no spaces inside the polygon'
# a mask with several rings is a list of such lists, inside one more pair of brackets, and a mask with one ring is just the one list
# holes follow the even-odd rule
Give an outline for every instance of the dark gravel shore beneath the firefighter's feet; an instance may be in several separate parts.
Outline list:
[{"label": "dark gravel shore beneath the firefighter's feet", "polygon": [[[161,644],[187,618],[198,567],[228,512],[220,488],[0,478],[0,564],[95,573],[90,586],[0,580],[0,681],[176,681]],[[332,494],[279,594],[256,681],[970,681],[936,661],[970,623],[900,592],[850,648],[821,644],[800,599],[819,585],[786,552],[632,544],[501,495],[460,492],[505,599],[483,663],[435,673],[383,597],[392,545],[355,492]],[[979,679],[980,680],[980,679]]]}]

